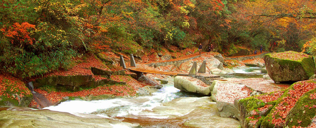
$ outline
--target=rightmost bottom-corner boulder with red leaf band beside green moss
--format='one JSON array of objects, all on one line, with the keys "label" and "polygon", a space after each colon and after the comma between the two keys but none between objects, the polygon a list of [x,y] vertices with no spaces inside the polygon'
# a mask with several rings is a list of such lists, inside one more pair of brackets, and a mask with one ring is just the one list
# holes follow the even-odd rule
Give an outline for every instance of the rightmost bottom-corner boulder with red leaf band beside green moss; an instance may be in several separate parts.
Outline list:
[{"label": "rightmost bottom-corner boulder with red leaf band beside green moss", "polygon": [[316,115],[316,79],[292,84],[262,121],[262,128],[307,127]]}]

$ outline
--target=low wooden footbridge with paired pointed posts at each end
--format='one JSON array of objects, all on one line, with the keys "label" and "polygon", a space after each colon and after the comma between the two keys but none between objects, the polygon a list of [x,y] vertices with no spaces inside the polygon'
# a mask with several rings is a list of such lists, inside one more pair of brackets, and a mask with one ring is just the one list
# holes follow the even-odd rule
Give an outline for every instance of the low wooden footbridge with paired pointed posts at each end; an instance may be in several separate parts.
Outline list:
[{"label": "low wooden footbridge with paired pointed posts at each end", "polygon": [[161,75],[174,75],[174,76],[192,76],[192,75],[200,75],[205,76],[208,79],[219,79],[220,76],[214,75],[214,74],[208,74],[206,73],[206,61],[203,61],[200,68],[197,70],[197,62],[194,62],[189,73],[179,73],[179,72],[168,72],[168,71],[158,71],[158,70],[150,70],[142,67],[137,67],[133,54],[130,55],[130,67],[126,67],[126,64],[124,62],[123,56],[120,56],[120,66],[122,66],[124,69],[129,69],[132,72],[135,73],[152,73],[152,74],[161,74]]}]

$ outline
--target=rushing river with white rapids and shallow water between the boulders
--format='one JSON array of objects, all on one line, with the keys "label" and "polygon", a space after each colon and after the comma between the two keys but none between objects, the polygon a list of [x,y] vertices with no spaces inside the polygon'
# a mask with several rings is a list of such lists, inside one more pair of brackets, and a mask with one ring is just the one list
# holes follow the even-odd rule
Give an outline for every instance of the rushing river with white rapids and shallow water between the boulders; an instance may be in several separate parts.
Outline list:
[{"label": "rushing river with white rapids and shallow water between the boulders", "polygon": [[[223,77],[262,77],[255,67],[234,69],[236,74]],[[173,87],[173,78],[150,96],[110,98],[103,100],[68,100],[57,106],[45,107],[53,111],[68,112],[77,116],[97,115],[144,128],[238,128],[239,122],[222,118],[216,102],[209,96],[201,97]]]}]

